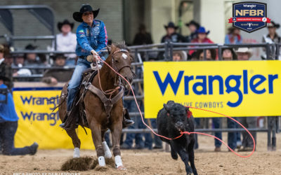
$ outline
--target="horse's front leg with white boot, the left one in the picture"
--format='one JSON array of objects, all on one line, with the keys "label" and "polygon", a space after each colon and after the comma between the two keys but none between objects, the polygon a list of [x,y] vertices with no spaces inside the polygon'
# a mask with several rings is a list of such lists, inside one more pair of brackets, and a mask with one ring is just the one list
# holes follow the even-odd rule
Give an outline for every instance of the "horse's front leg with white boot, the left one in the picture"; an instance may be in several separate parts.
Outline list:
[{"label": "horse's front leg with white boot, the left one in the picture", "polygon": [[97,153],[97,157],[98,157],[98,164],[101,167],[104,167],[105,166],[105,151],[103,151],[100,125],[98,125],[95,122],[92,122],[89,125],[89,127],[91,128],[91,131],[92,131],[93,144],[96,147],[96,153]]}]

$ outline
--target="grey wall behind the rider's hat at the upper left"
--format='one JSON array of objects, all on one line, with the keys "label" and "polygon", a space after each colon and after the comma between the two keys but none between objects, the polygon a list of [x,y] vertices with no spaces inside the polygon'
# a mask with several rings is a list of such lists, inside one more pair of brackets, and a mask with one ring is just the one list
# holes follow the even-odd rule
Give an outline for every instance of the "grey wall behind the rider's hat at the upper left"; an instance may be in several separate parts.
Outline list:
[{"label": "grey wall behind the rider's hat at the upper left", "polygon": [[[55,34],[58,34],[57,23],[65,19],[74,22],[72,13],[79,11],[82,3],[90,3],[90,5],[96,9],[100,8],[100,13],[96,19],[103,20],[107,28],[108,38],[113,41],[122,41],[123,36],[123,10],[122,0],[92,0],[92,1],[77,1],[77,0],[1,0],[0,6],[9,5],[47,5],[53,8],[55,15]],[[28,10],[12,10],[14,20],[14,33],[15,36],[42,36],[51,35],[51,31],[46,29],[37,18],[35,18]],[[79,22],[74,23],[73,32],[76,31]],[[10,32],[0,25],[0,35],[10,34]],[[4,40],[1,39],[1,42]],[[51,41],[33,41],[28,43],[34,43],[39,46],[39,49],[46,49],[47,45],[51,45]],[[24,48],[27,45],[27,41],[16,41],[16,48]]]}]

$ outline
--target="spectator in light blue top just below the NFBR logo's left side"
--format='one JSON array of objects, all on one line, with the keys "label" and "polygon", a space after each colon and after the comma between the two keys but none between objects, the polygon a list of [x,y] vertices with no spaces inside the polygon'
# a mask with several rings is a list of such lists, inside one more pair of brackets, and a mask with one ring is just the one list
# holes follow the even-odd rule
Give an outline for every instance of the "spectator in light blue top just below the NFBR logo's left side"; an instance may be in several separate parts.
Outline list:
[{"label": "spectator in light blue top just below the NFBR logo's left side", "polygon": [[224,39],[226,44],[240,44],[242,43],[242,36],[240,35],[240,29],[236,27],[229,27],[228,34]]}]

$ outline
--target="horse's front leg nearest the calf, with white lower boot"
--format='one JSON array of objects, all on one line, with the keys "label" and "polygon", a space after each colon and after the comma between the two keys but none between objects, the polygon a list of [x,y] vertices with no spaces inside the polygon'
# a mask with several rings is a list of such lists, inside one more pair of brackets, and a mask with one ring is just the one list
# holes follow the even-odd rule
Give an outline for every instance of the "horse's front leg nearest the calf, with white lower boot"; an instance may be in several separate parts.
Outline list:
[{"label": "horse's front leg nearest the calf, with white lower boot", "polygon": [[112,122],[112,126],[110,128],[111,133],[112,133],[112,145],[113,145],[113,155],[115,156],[115,165],[116,168],[119,170],[124,170],[125,167],[122,164],[122,159],[121,159],[121,151],[120,151],[120,138],[122,134],[122,112],[119,113],[119,116],[117,116],[117,113],[115,113],[112,118],[115,119],[115,121]]}]

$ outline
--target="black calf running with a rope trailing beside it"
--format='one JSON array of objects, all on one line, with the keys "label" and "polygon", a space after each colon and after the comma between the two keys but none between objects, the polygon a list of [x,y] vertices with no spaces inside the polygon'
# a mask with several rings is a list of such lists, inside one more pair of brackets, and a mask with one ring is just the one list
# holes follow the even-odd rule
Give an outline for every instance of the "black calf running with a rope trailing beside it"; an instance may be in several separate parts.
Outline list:
[{"label": "black calf running with a rope trailing beside it", "polygon": [[[164,108],[157,115],[157,130],[164,137],[175,138],[182,132],[194,132],[194,119],[188,108],[174,101],[164,104]],[[183,134],[182,137],[168,140],[160,137],[171,146],[171,158],[178,159],[178,155],[185,163],[187,174],[197,174],[194,164],[195,134]],[[190,165],[188,164],[190,162]],[[191,166],[191,167],[190,167]]]}]

